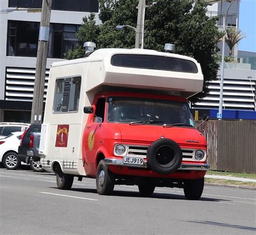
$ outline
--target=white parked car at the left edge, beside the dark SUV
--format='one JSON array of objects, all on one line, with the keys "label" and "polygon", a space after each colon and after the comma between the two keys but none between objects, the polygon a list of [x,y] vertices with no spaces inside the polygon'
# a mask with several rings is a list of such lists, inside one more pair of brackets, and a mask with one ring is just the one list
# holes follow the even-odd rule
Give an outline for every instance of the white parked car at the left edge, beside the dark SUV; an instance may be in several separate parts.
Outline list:
[{"label": "white parked car at the left edge, beside the dark SUV", "polygon": [[0,140],[0,162],[7,169],[15,170],[21,165],[18,160],[18,147],[23,132],[13,132]]}]

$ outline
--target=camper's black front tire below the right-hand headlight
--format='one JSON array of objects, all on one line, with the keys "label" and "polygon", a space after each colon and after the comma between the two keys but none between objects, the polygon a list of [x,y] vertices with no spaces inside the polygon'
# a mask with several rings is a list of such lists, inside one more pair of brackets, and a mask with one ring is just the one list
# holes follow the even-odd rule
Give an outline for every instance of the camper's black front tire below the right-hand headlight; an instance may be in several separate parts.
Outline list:
[{"label": "camper's black front tire below the right-hand headlight", "polygon": [[184,194],[188,200],[198,200],[204,190],[205,178],[187,179],[184,182]]}]

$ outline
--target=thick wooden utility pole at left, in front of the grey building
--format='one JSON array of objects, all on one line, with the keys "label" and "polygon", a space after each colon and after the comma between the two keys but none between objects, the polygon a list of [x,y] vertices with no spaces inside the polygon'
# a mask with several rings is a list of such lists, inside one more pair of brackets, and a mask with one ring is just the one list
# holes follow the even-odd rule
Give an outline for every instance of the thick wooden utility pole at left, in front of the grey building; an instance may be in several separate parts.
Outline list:
[{"label": "thick wooden utility pole at left, in front of the grey building", "polygon": [[50,32],[51,3],[52,0],[43,0],[42,3],[42,15],[37,47],[36,77],[31,110],[31,123],[42,123],[43,121],[44,83]]}]

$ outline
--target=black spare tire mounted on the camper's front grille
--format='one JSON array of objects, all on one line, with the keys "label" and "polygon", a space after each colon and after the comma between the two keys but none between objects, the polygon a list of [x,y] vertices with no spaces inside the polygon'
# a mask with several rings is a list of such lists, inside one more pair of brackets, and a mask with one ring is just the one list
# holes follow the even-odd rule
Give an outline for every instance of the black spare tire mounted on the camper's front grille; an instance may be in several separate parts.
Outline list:
[{"label": "black spare tire mounted on the camper's front grille", "polygon": [[173,140],[157,140],[147,150],[147,164],[160,174],[170,174],[176,171],[181,161],[182,151]]}]

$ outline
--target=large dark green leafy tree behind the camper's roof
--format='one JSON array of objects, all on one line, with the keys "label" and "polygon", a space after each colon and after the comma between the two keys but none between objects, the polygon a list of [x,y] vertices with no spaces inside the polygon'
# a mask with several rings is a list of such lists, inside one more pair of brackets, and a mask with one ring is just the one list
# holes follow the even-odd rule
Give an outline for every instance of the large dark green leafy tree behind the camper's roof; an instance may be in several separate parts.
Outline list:
[{"label": "large dark green leafy tree behind the camper's roof", "polygon": [[[116,25],[136,27],[138,0],[100,0],[99,2],[99,17],[102,24],[97,26],[92,16],[87,21],[84,19],[80,31],[87,34],[80,31],[77,33],[79,40],[77,50],[70,52],[68,59],[84,56],[82,45],[89,38],[92,42],[96,42],[98,49],[134,47],[136,36],[134,30],[126,27],[123,31],[117,31],[115,27]],[[152,2],[149,0],[147,4],[150,5]],[[188,0],[158,0],[152,8],[146,9],[144,48],[164,51],[165,43],[176,45],[176,53],[193,57],[200,63],[204,74],[204,91],[207,91],[205,82],[217,77],[219,67],[217,43],[223,36],[215,23],[216,18],[206,16],[205,3],[199,1],[192,9],[192,3]],[[196,101],[204,93],[193,97],[191,101]]]}]

